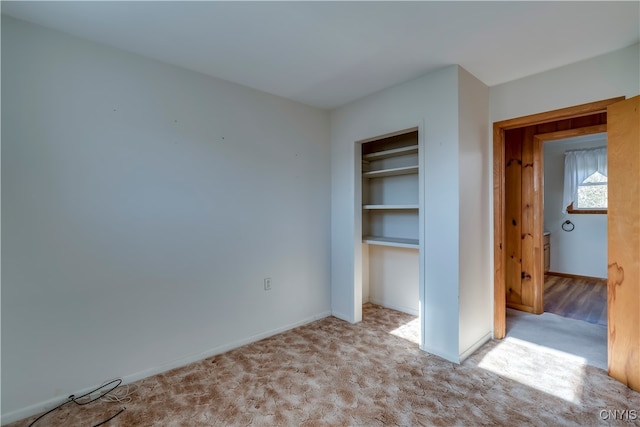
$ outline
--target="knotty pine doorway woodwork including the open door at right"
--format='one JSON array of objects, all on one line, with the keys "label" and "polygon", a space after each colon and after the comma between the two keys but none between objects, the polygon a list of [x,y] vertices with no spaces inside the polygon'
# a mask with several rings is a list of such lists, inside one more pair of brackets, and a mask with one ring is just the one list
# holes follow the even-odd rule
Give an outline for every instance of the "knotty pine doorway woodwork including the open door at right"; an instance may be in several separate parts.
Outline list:
[{"label": "knotty pine doorway woodwork including the open door at right", "polygon": [[[536,147],[542,140],[535,136],[578,135],[581,128],[598,125],[605,125],[609,169],[615,170],[609,176],[608,371],[640,390],[640,96],[494,123],[494,338],[505,336],[508,302],[532,313],[543,309],[542,150]],[[519,197],[506,197],[508,183]]]}]

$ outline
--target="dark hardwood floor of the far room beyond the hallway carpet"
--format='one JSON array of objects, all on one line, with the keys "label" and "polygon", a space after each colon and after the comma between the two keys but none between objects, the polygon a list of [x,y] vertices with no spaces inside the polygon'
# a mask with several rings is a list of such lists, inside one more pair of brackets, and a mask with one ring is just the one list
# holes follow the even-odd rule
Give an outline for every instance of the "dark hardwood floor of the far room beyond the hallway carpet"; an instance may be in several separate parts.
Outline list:
[{"label": "dark hardwood floor of the far room beyond the hallway carpet", "polygon": [[607,280],[544,276],[544,311],[607,325]]}]

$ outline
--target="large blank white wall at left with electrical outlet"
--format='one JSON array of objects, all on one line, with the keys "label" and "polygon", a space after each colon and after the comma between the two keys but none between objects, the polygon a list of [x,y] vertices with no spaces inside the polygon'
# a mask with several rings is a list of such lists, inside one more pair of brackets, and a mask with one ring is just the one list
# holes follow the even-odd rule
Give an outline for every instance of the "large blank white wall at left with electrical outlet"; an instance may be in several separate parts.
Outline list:
[{"label": "large blank white wall at left with electrical outlet", "polygon": [[2,92],[3,422],[330,314],[327,112],[4,16]]}]

